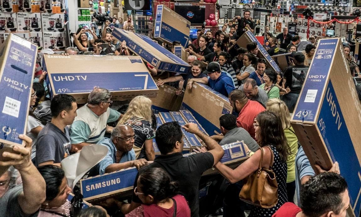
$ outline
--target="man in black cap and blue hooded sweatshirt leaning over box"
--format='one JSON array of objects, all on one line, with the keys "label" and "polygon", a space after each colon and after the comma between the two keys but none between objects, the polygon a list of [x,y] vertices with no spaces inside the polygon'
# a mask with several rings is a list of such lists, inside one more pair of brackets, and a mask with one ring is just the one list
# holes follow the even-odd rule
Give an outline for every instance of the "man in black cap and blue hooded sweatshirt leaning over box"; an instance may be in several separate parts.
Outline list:
[{"label": "man in black cap and blue hooded sweatshirt leaning over box", "polygon": [[232,90],[236,89],[231,76],[227,72],[221,72],[221,65],[218,62],[211,62],[203,74],[208,75],[208,86],[218,93],[228,97]]}]

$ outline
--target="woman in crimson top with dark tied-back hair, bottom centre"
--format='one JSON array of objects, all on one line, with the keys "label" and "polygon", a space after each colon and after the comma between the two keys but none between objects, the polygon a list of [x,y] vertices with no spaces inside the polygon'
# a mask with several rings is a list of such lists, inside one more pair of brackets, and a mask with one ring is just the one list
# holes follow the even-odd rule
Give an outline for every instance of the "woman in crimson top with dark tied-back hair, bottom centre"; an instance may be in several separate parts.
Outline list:
[{"label": "woman in crimson top with dark tied-back hair, bottom centre", "polygon": [[139,175],[134,194],[142,205],[126,217],[190,217],[191,210],[183,195],[177,194],[177,183],[161,168],[150,168]]}]

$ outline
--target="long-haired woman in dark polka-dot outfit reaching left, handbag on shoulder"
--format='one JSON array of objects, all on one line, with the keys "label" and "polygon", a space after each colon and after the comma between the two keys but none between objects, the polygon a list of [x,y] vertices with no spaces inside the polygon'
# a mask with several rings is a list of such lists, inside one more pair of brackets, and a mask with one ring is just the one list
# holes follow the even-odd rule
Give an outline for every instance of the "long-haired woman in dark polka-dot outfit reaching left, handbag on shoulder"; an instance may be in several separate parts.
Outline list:
[{"label": "long-haired woman in dark polka-dot outfit reaching left, handbag on shoulder", "polygon": [[[287,202],[287,158],[290,154],[290,147],[284,135],[281,119],[273,112],[261,112],[257,115],[253,125],[256,130],[256,140],[264,152],[261,166],[265,169],[272,169],[276,175],[278,202],[274,207],[269,209],[252,206],[249,217],[270,217],[280,206]],[[253,153],[247,146],[244,146],[244,148],[249,158],[236,169],[233,170],[221,162],[215,165],[219,173],[228,179],[230,183],[243,180],[258,170],[258,165],[261,160],[261,150],[258,149]],[[273,162],[271,162],[272,154],[274,156]],[[273,163],[272,167],[270,167],[271,163]]]}]

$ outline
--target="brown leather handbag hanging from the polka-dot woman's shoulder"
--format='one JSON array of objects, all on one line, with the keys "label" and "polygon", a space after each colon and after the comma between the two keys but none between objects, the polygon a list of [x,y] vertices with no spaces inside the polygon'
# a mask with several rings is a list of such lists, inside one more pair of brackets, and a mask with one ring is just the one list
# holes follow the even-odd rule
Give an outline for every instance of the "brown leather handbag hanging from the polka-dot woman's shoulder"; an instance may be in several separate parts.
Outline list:
[{"label": "brown leather handbag hanging from the polka-dot woman's shoulder", "polygon": [[277,180],[272,168],[274,155],[269,146],[265,146],[271,151],[270,169],[262,168],[263,149],[261,148],[261,160],[258,170],[248,176],[247,183],[239,192],[239,199],[257,207],[272,208],[277,204]]}]

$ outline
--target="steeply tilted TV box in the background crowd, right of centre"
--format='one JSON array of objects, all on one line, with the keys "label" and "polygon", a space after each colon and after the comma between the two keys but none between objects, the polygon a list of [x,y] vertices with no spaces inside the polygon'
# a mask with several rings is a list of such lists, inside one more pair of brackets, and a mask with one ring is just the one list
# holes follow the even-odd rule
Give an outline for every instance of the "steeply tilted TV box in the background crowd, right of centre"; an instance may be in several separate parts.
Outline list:
[{"label": "steeply tilted TV box in the background crowd, right of centre", "polygon": [[261,55],[263,56],[264,59],[266,59],[266,61],[268,62],[268,65],[273,68],[274,71],[276,72],[280,72],[280,68],[278,67],[277,63],[275,63],[275,61],[271,58],[271,56],[268,54],[268,52],[266,51],[266,49],[262,46],[262,44],[257,40],[257,38],[255,37],[255,35],[253,35],[253,33],[251,31],[246,31],[245,33],[243,33],[243,35],[241,37],[239,37],[239,39],[237,40],[236,44],[233,46],[233,48],[236,50],[240,47],[247,47],[247,44],[250,42],[256,42],[257,43],[257,47],[259,49],[258,52],[261,53]]}]

